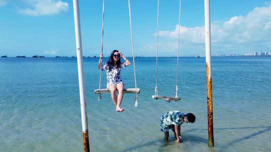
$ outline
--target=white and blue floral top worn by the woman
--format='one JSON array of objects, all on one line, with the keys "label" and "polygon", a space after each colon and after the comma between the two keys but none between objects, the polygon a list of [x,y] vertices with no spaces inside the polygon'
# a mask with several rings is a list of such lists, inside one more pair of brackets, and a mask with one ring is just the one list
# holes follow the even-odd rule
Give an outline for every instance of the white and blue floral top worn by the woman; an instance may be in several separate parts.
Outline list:
[{"label": "white and blue floral top worn by the woman", "polygon": [[117,85],[118,83],[122,83],[122,80],[120,78],[120,71],[121,68],[126,67],[126,62],[120,62],[120,67],[113,66],[111,70],[109,70],[109,66],[106,63],[104,63],[101,67],[101,70],[104,71],[106,70],[106,78],[107,78],[107,84],[106,88],[108,88],[109,84],[115,84]]}]

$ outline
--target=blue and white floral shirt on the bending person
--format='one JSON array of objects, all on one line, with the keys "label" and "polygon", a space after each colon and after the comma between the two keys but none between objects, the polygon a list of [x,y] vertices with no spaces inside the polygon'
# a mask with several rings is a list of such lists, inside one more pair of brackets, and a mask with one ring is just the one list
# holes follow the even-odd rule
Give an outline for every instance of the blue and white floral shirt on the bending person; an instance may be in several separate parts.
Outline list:
[{"label": "blue and white floral shirt on the bending person", "polygon": [[169,131],[173,129],[174,125],[181,125],[184,123],[185,114],[180,111],[169,111],[161,116],[161,131]]}]

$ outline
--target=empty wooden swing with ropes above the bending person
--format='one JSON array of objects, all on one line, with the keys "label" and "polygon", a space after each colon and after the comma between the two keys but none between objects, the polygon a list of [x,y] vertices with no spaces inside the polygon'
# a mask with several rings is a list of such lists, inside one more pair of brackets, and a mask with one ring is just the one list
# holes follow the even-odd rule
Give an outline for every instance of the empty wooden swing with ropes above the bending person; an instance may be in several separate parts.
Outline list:
[{"label": "empty wooden swing with ropes above the bending person", "polygon": [[177,84],[176,84],[176,95],[175,97],[170,96],[160,96],[158,95],[158,86],[157,86],[157,71],[158,71],[158,33],[159,33],[159,0],[158,0],[158,9],[157,9],[157,49],[156,49],[156,86],[155,86],[155,95],[152,95],[154,99],[163,99],[167,102],[171,101],[178,101],[181,100],[180,97],[178,97],[178,67],[179,67],[179,45],[180,45],[180,16],[181,16],[181,0],[180,0],[180,7],[179,7],[179,37],[178,37],[178,51],[177,51]]}]

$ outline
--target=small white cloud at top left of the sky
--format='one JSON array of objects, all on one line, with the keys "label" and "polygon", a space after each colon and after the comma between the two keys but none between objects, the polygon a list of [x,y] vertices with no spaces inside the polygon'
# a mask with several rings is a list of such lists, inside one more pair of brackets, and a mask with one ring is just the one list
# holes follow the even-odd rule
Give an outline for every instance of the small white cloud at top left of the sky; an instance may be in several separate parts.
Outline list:
[{"label": "small white cloud at top left of the sky", "polygon": [[18,12],[30,16],[53,15],[67,12],[69,4],[61,0],[25,0],[32,8],[18,8]]}]

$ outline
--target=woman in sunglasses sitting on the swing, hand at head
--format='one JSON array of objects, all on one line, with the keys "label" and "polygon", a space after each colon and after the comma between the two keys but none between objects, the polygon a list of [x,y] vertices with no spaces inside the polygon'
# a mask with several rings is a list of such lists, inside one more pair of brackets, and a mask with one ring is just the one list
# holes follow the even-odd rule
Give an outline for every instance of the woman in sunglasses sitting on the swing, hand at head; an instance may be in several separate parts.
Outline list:
[{"label": "woman in sunglasses sitting on the swing, hand at head", "polygon": [[[108,61],[101,65],[101,59],[103,54],[100,54],[100,59],[98,63],[98,68],[103,71],[106,70],[106,78],[107,78],[107,85],[106,87],[111,92],[111,98],[113,103],[116,106],[117,112],[124,111],[124,108],[120,107],[122,97],[123,97],[123,89],[124,84],[120,78],[120,71],[121,68],[125,68],[126,66],[130,65],[129,60],[123,56],[123,54],[118,50],[113,50],[111,55],[108,58]],[[125,62],[120,61],[120,57],[124,59]],[[116,95],[116,89],[118,90],[118,95]]]}]

